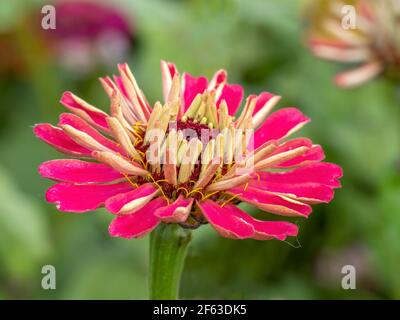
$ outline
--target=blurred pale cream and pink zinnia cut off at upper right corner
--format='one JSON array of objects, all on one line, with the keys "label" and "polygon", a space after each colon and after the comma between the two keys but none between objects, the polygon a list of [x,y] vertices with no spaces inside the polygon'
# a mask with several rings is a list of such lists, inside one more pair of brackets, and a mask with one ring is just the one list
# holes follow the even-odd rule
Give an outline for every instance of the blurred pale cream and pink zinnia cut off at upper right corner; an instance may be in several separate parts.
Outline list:
[{"label": "blurred pale cream and pink zinnia cut off at upper right corner", "polygon": [[[354,5],[355,28],[348,23],[344,5]],[[309,7],[309,45],[319,58],[351,64],[335,83],[357,86],[385,72],[399,75],[400,0],[313,1]]]}]

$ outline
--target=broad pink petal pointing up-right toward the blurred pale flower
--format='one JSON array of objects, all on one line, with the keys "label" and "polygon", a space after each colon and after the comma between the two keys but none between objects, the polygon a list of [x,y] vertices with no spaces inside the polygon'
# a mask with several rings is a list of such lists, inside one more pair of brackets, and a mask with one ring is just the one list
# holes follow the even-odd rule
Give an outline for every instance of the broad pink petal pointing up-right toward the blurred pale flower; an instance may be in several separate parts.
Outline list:
[{"label": "broad pink petal pointing up-right toward the blurred pale flower", "polygon": [[284,108],[272,113],[256,130],[254,147],[269,140],[280,140],[301,128],[310,119],[296,108]]}]

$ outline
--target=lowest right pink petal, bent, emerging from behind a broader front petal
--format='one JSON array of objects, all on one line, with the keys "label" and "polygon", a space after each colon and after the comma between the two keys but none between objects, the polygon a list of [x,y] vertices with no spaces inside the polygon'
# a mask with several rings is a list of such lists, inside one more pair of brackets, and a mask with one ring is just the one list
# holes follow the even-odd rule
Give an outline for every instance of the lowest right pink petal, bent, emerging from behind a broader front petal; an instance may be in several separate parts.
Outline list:
[{"label": "lowest right pink petal, bent, emerging from behind a broader front petal", "polygon": [[252,238],[254,239],[269,240],[275,238],[278,240],[285,240],[288,236],[295,237],[298,234],[298,227],[293,223],[283,221],[261,221],[254,219],[233,204],[227,204],[225,207],[233,215],[243,219],[253,226],[255,234]]}]

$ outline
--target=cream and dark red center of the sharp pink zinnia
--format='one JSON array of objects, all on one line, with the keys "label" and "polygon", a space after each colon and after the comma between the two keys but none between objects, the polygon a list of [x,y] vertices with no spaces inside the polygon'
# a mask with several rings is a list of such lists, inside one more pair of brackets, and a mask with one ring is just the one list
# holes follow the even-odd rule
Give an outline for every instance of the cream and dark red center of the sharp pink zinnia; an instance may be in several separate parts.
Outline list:
[{"label": "cream and dark red center of the sharp pink zinnia", "polygon": [[[223,192],[226,182],[221,179],[230,177],[236,162],[235,150],[245,152],[243,135],[236,141],[236,129],[232,124],[220,127],[205,117],[202,121],[199,117],[182,117],[166,123],[162,116],[154,118],[152,125],[146,128],[134,128],[134,147],[148,175],[137,176],[133,182],[137,185],[152,183],[169,204],[179,197],[195,201],[230,201],[231,197]],[[151,131],[153,129],[155,131]],[[197,228],[206,223],[197,207],[193,208],[189,218],[181,223],[183,227]]]}]

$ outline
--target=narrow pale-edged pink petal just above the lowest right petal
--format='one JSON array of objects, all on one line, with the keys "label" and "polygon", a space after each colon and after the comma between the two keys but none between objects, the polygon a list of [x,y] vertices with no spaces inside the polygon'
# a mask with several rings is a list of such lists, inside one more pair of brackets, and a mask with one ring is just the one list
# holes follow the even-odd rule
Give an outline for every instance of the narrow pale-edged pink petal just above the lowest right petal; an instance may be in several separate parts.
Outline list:
[{"label": "narrow pale-edged pink petal just above the lowest right petal", "polygon": [[311,213],[312,209],[308,204],[252,187],[244,189],[243,187],[236,187],[229,189],[227,192],[237,195],[238,199],[248,202],[261,210],[278,215],[308,217]]}]

